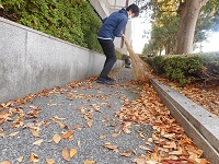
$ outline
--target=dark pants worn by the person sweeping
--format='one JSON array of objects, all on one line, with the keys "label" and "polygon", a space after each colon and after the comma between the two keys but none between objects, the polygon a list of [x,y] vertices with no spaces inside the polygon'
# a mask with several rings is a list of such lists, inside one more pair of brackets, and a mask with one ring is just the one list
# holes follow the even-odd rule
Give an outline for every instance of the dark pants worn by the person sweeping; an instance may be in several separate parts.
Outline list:
[{"label": "dark pants worn by the person sweeping", "polygon": [[114,63],[116,62],[116,52],[115,52],[115,46],[113,40],[111,39],[100,39],[99,43],[101,44],[101,47],[103,49],[104,55],[106,56],[106,60],[103,67],[103,70],[100,74],[101,78],[106,78],[108,73],[111,72]]}]

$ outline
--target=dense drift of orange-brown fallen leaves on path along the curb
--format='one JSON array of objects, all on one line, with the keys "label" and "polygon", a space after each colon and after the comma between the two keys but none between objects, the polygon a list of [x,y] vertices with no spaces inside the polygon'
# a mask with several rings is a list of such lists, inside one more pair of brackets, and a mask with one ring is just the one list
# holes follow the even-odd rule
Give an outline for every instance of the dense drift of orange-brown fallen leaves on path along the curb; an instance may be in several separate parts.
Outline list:
[{"label": "dense drift of orange-brown fallen leaves on path along the curb", "polygon": [[[150,124],[154,132],[152,138],[147,139],[145,149],[147,154],[134,159],[137,164],[143,163],[209,163],[201,159],[203,151],[184,133],[184,129],[170,115],[170,110],[161,103],[157,93],[145,84],[140,96],[130,103],[124,103],[116,116],[127,124]],[[141,138],[143,134],[141,133]],[[154,142],[155,147],[151,151],[147,144]]]}]

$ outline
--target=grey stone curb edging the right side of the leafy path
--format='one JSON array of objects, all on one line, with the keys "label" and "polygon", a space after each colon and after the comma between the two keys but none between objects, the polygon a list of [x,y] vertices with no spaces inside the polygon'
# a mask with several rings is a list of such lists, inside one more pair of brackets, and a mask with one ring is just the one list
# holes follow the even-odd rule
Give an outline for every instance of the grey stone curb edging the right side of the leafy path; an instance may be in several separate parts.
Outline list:
[{"label": "grey stone curb edging the right side of the leafy path", "polygon": [[219,164],[219,118],[157,79],[151,83],[171,115],[204,151],[204,156],[210,163]]}]

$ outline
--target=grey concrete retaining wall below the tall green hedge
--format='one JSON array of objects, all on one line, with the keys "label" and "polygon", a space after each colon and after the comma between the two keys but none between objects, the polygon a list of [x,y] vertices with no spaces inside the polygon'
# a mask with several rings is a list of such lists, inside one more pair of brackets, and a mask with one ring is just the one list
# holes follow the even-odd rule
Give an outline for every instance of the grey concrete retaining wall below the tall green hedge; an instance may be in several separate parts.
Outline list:
[{"label": "grey concrete retaining wall below the tall green hedge", "polygon": [[[0,17],[0,103],[99,75],[105,56]],[[118,60],[114,68],[123,66]]]}]

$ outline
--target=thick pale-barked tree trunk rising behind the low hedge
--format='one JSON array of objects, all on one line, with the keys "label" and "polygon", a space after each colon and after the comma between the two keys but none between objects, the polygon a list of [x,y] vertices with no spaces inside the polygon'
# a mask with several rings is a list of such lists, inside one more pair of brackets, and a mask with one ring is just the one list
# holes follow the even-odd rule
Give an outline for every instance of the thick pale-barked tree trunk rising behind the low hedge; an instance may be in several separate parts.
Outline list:
[{"label": "thick pale-barked tree trunk rising behind the low hedge", "polygon": [[207,1],[208,0],[186,0],[180,3],[180,25],[177,30],[175,54],[193,52],[196,22],[200,8],[205,5]]}]

